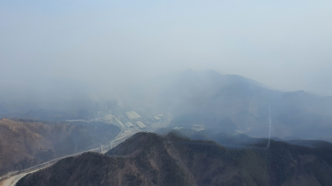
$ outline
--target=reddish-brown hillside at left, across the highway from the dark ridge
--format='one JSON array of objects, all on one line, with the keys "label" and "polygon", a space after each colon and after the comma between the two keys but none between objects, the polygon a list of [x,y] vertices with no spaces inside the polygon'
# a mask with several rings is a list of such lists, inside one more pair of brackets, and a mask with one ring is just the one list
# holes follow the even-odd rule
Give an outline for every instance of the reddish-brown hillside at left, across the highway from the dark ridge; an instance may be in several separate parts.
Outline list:
[{"label": "reddish-brown hillside at left, across the highway from the dark ridge", "polygon": [[0,120],[0,175],[96,148],[119,132],[113,125],[45,125],[3,118]]}]

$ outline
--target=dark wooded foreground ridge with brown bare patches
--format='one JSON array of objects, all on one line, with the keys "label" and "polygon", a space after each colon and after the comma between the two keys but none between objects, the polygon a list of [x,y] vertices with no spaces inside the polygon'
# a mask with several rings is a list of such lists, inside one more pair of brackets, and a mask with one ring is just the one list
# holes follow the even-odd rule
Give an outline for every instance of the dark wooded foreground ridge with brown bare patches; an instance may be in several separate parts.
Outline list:
[{"label": "dark wooded foreground ridge with brown bare patches", "polygon": [[331,149],[266,145],[228,149],[174,133],[137,133],[106,155],[60,160],[17,185],[331,185]]}]

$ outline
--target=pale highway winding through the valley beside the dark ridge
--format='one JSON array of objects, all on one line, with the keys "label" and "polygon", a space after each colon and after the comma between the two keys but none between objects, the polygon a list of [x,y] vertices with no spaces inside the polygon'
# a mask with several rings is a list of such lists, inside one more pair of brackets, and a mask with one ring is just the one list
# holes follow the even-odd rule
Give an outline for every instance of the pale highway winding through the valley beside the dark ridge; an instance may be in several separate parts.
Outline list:
[{"label": "pale highway winding through the valley beside the dark ridge", "polygon": [[[166,114],[166,115],[164,115],[163,119],[160,122],[153,124],[153,126],[148,128],[148,129],[138,130],[138,129],[135,128],[135,129],[129,129],[129,130],[126,130],[126,131],[122,130],[120,132],[120,134],[114,140],[112,140],[112,148],[119,145],[120,143],[122,143],[126,139],[130,138],[131,136],[133,136],[137,132],[154,132],[158,128],[165,127],[170,123],[171,120],[172,120],[171,114]],[[66,158],[66,157],[77,156],[77,155],[80,155],[80,154],[85,153],[85,152],[106,153],[109,149],[111,149],[111,143],[108,142],[108,143],[102,145],[102,147],[103,147],[102,152],[101,152],[101,147],[94,148],[94,149],[90,149],[90,150],[87,150],[87,151],[84,151],[84,152],[78,152],[78,153],[75,153],[75,154],[59,157],[59,158],[53,159],[51,161],[48,161],[48,162],[30,167],[30,168],[27,168],[27,169],[24,169],[24,170],[8,172],[7,174],[5,174],[3,176],[0,176],[0,186],[15,186],[15,184],[22,177],[24,177],[25,175],[27,175],[29,173],[36,172],[36,171],[41,170],[41,169],[44,169],[46,167],[49,167],[52,164],[59,161],[60,159],[63,159],[63,158]]]}]

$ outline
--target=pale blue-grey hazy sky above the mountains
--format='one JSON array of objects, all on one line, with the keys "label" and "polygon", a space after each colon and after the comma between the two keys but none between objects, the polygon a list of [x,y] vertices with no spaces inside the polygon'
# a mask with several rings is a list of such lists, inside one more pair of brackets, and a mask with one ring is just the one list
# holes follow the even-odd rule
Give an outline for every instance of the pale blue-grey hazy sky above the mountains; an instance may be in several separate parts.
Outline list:
[{"label": "pale blue-grey hazy sky above the mountains", "polygon": [[87,2],[1,1],[0,88],[214,69],[332,96],[332,1]]}]

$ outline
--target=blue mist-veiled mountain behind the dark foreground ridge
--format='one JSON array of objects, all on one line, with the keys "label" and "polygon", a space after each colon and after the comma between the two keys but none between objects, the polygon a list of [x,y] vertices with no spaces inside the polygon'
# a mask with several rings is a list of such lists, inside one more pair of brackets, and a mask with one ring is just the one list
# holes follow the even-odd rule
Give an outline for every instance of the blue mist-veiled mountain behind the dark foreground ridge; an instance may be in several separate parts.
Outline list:
[{"label": "blue mist-veiled mountain behind the dark foreground ridge", "polygon": [[192,70],[154,79],[139,89],[138,99],[174,114],[171,126],[205,125],[215,131],[332,141],[332,97],[302,90],[282,92],[238,75]]}]

